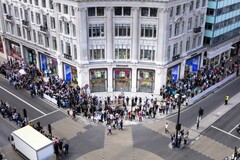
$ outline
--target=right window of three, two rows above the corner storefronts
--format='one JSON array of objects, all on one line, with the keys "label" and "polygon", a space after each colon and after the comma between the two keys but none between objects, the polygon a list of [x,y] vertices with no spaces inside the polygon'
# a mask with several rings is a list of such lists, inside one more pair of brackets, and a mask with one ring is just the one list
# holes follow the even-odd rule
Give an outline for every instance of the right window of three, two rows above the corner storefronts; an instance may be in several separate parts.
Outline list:
[{"label": "right window of three, two rows above the corner storefronts", "polygon": [[156,25],[141,24],[141,37],[155,38],[157,36]]}]

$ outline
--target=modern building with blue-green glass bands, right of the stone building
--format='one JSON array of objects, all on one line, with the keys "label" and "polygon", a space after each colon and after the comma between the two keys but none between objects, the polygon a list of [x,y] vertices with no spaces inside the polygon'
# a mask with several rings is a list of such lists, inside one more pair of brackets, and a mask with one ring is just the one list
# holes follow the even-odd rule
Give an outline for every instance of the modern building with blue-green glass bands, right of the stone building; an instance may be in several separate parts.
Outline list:
[{"label": "modern building with blue-green glass bands, right of the stone building", "polygon": [[204,43],[206,59],[214,66],[230,54],[240,54],[240,1],[209,0]]}]

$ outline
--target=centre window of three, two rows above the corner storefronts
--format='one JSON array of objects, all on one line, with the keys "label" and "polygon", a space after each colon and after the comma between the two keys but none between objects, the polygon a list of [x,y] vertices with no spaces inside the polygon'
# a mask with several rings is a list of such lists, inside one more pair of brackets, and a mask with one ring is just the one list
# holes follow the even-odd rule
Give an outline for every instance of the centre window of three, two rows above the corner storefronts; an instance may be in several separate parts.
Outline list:
[{"label": "centre window of three, two rows above the corner storefronts", "polygon": [[130,36],[130,24],[115,24],[115,36],[116,37],[129,37]]}]

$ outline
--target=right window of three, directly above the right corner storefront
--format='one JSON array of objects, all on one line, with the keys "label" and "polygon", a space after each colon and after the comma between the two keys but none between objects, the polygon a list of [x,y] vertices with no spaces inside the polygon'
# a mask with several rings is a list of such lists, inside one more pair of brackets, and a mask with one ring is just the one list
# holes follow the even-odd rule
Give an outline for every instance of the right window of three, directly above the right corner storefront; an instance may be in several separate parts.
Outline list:
[{"label": "right window of three, directly above the right corner storefront", "polygon": [[153,46],[141,46],[140,60],[155,61],[155,48]]}]

